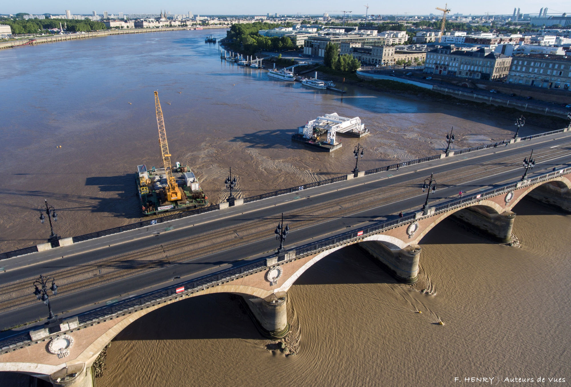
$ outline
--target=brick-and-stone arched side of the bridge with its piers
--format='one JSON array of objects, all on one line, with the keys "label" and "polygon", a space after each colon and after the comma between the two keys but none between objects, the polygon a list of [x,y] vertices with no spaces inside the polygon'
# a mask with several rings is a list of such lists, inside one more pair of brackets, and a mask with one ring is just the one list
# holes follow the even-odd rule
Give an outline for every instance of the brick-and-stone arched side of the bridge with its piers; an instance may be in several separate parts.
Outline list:
[{"label": "brick-and-stone arched side of the bridge with its piers", "polygon": [[63,320],[57,333],[43,328],[26,332],[12,342],[1,342],[0,371],[29,374],[56,386],[93,386],[91,365],[127,325],[164,305],[209,293],[242,296],[259,327],[269,336],[283,337],[289,330],[288,289],[309,267],[333,251],[359,244],[397,279],[414,283],[420,240],[448,216],[507,242],[516,218],[512,208],[518,201],[530,195],[571,212],[570,188],[571,168],[564,168],[95,309]]}]

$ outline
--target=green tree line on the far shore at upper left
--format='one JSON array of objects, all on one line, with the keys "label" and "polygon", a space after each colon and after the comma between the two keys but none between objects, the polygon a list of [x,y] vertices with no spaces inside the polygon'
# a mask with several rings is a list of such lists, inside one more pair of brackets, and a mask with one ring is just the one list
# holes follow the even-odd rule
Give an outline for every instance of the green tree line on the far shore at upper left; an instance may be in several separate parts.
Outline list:
[{"label": "green tree line on the far shore at upper left", "polygon": [[94,22],[90,19],[13,19],[0,18],[0,23],[10,26],[14,35],[23,34],[49,34],[50,29],[59,29],[59,23],[66,24],[66,31],[82,32],[105,30],[107,27],[101,22]]}]

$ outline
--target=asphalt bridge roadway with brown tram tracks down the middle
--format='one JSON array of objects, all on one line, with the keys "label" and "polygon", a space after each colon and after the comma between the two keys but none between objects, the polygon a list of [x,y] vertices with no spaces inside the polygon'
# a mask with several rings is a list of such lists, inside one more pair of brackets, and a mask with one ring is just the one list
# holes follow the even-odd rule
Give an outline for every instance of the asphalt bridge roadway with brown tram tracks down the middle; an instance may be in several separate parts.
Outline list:
[{"label": "asphalt bridge roadway with brown tram tracks down the middle", "polygon": [[[439,181],[439,190],[431,194],[430,203],[455,197],[460,189],[470,192],[512,182],[521,176],[521,160],[532,147],[536,148],[535,173],[571,162],[569,136],[535,139],[262,200],[256,203],[257,209],[247,204],[227,213],[204,214],[206,223],[198,224],[193,216],[186,221],[194,222],[194,227],[158,235],[155,231],[155,236],[14,268],[0,275],[1,325],[45,316],[46,308],[31,294],[33,278],[40,273],[57,279],[60,293],[53,297],[54,312],[69,311],[66,314],[70,315],[78,307],[94,308],[95,303],[132,296],[151,285],[175,284],[204,275],[204,271],[270,255],[277,247],[273,232],[281,212],[291,228],[286,246],[295,248],[368,222],[391,219],[405,209],[417,211],[425,200],[420,185],[431,172]],[[41,261],[42,253],[37,256]],[[174,277],[182,279],[173,281]]]}]

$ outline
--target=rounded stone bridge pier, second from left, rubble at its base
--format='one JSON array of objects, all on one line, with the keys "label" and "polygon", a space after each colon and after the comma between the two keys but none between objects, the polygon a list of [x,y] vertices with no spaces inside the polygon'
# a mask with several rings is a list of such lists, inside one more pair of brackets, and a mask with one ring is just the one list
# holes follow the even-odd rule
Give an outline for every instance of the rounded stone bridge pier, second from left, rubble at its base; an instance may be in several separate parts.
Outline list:
[{"label": "rounded stone bridge pier, second from left, rubble at its base", "polygon": [[287,292],[272,293],[265,299],[244,297],[244,301],[267,336],[281,338],[289,333]]}]

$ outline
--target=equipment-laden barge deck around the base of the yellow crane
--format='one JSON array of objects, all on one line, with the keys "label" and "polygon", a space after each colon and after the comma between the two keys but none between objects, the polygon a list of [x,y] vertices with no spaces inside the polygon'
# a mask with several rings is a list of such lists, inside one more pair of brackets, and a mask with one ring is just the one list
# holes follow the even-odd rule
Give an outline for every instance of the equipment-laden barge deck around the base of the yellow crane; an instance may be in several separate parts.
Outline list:
[{"label": "equipment-laden barge deck around the base of the yellow crane", "polygon": [[188,166],[176,163],[172,167],[172,176],[176,179],[176,184],[180,189],[180,200],[169,201],[164,195],[164,187],[168,184],[164,168],[152,167],[147,171],[144,164],[137,166],[135,181],[143,215],[158,215],[159,213],[184,211],[208,205],[208,197],[204,195],[198,179]]}]

